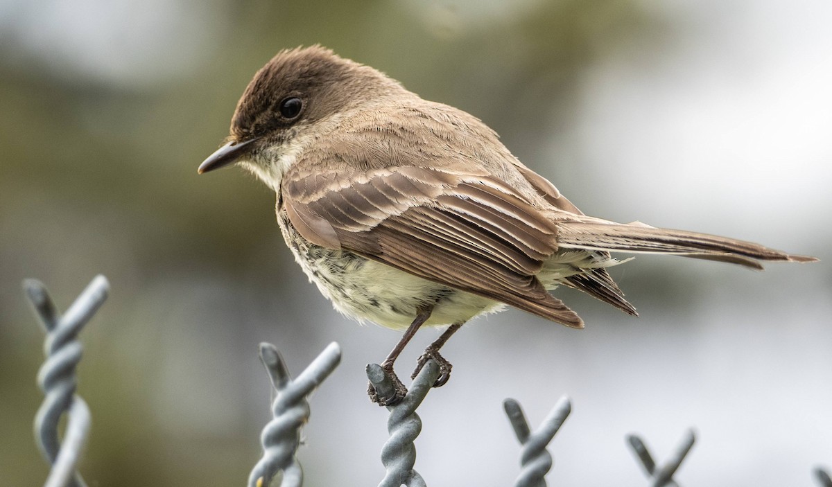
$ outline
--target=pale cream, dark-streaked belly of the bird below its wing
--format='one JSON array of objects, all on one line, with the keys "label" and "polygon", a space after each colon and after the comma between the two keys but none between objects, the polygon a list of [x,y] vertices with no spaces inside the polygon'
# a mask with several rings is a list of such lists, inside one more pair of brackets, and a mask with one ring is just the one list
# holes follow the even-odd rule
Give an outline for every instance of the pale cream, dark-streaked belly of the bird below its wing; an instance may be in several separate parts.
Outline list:
[{"label": "pale cream, dark-streaked belly of the bird below its wing", "polygon": [[280,227],[310,282],[336,310],[359,322],[369,320],[403,329],[414,321],[419,307],[435,303],[425,324],[442,326],[467,322],[478,314],[504,307],[492,299],[433,283],[347,250],[310,244],[288,222],[281,222]]}]

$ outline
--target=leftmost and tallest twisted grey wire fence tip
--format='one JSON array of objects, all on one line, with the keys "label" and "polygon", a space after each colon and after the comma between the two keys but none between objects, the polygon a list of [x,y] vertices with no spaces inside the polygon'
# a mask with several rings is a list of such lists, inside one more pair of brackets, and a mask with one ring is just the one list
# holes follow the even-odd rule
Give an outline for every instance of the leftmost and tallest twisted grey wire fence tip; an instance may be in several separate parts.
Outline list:
[{"label": "leftmost and tallest twisted grey wire fence tip", "polygon": [[[63,316],[42,283],[27,279],[23,288],[47,332],[43,346],[47,360],[37,373],[37,383],[45,397],[35,416],[37,446],[52,465],[46,486],[84,487],[77,464],[87,442],[90,411],[81,397],[75,395],[75,370],[82,355],[77,335],[104,303],[110,285],[104,276],[92,279]],[[57,426],[64,413],[67,413],[67,427],[61,442]]]}]

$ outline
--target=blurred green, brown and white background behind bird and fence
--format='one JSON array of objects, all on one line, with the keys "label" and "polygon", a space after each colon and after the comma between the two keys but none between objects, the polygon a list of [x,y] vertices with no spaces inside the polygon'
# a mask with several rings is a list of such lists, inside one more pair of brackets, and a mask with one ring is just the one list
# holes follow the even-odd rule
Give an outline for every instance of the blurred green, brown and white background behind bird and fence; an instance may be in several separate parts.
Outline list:
[{"label": "blurred green, brown and white background behind bird and fence", "polygon": [[[587,214],[749,239],[821,263],[754,273],[639,256],[612,274],[627,317],[570,290],[575,331],[510,310],[444,348],[420,408],[428,485],[509,485],[558,397],[558,485],[645,485],[624,435],[664,459],[693,426],[689,485],[814,485],[832,466],[832,4],[447,0],[0,0],[0,484],[37,485],[38,278],[82,333],[91,485],[242,485],[270,418],[256,357],[344,360],[311,400],[307,485],[376,485],[386,411],[364,365],[399,339],[334,312],[242,170],[198,176],[257,69],[320,43],[473,113]],[[403,376],[437,336],[420,332]],[[488,465],[483,469],[482,465]]]}]

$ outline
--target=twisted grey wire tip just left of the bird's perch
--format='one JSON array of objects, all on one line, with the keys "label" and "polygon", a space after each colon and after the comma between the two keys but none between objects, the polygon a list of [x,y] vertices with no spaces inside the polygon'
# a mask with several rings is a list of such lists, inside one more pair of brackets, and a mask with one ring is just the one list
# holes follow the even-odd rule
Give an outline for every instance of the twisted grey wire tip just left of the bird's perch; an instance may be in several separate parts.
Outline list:
[{"label": "twisted grey wire tip just left of the bird's perch", "polygon": [[310,405],[306,396],[314,391],[341,361],[341,347],[332,342],[293,380],[280,352],[270,343],[260,343],[260,360],[277,391],[269,421],[260,434],[263,457],[249,475],[249,487],[270,485],[282,472],[281,487],[300,487],[304,473],[295,453],[300,445],[300,428],[309,421]]}]

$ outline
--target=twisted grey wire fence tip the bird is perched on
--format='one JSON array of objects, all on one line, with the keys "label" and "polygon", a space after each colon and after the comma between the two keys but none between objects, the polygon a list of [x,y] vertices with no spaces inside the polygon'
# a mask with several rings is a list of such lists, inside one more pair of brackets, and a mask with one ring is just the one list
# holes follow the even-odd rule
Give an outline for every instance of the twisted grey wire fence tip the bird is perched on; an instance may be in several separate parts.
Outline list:
[{"label": "twisted grey wire fence tip the bird is perched on", "polygon": [[[422,404],[424,397],[433,387],[439,376],[439,366],[429,360],[410,384],[404,399],[395,406],[387,406],[390,416],[387,419],[389,440],[381,449],[381,463],[386,473],[379,487],[425,487],[422,475],[414,470],[416,464],[416,447],[414,440],[422,431],[422,420],[416,414],[416,408]],[[393,396],[393,383],[387,371],[379,364],[367,366],[367,377],[381,397]]]}]

